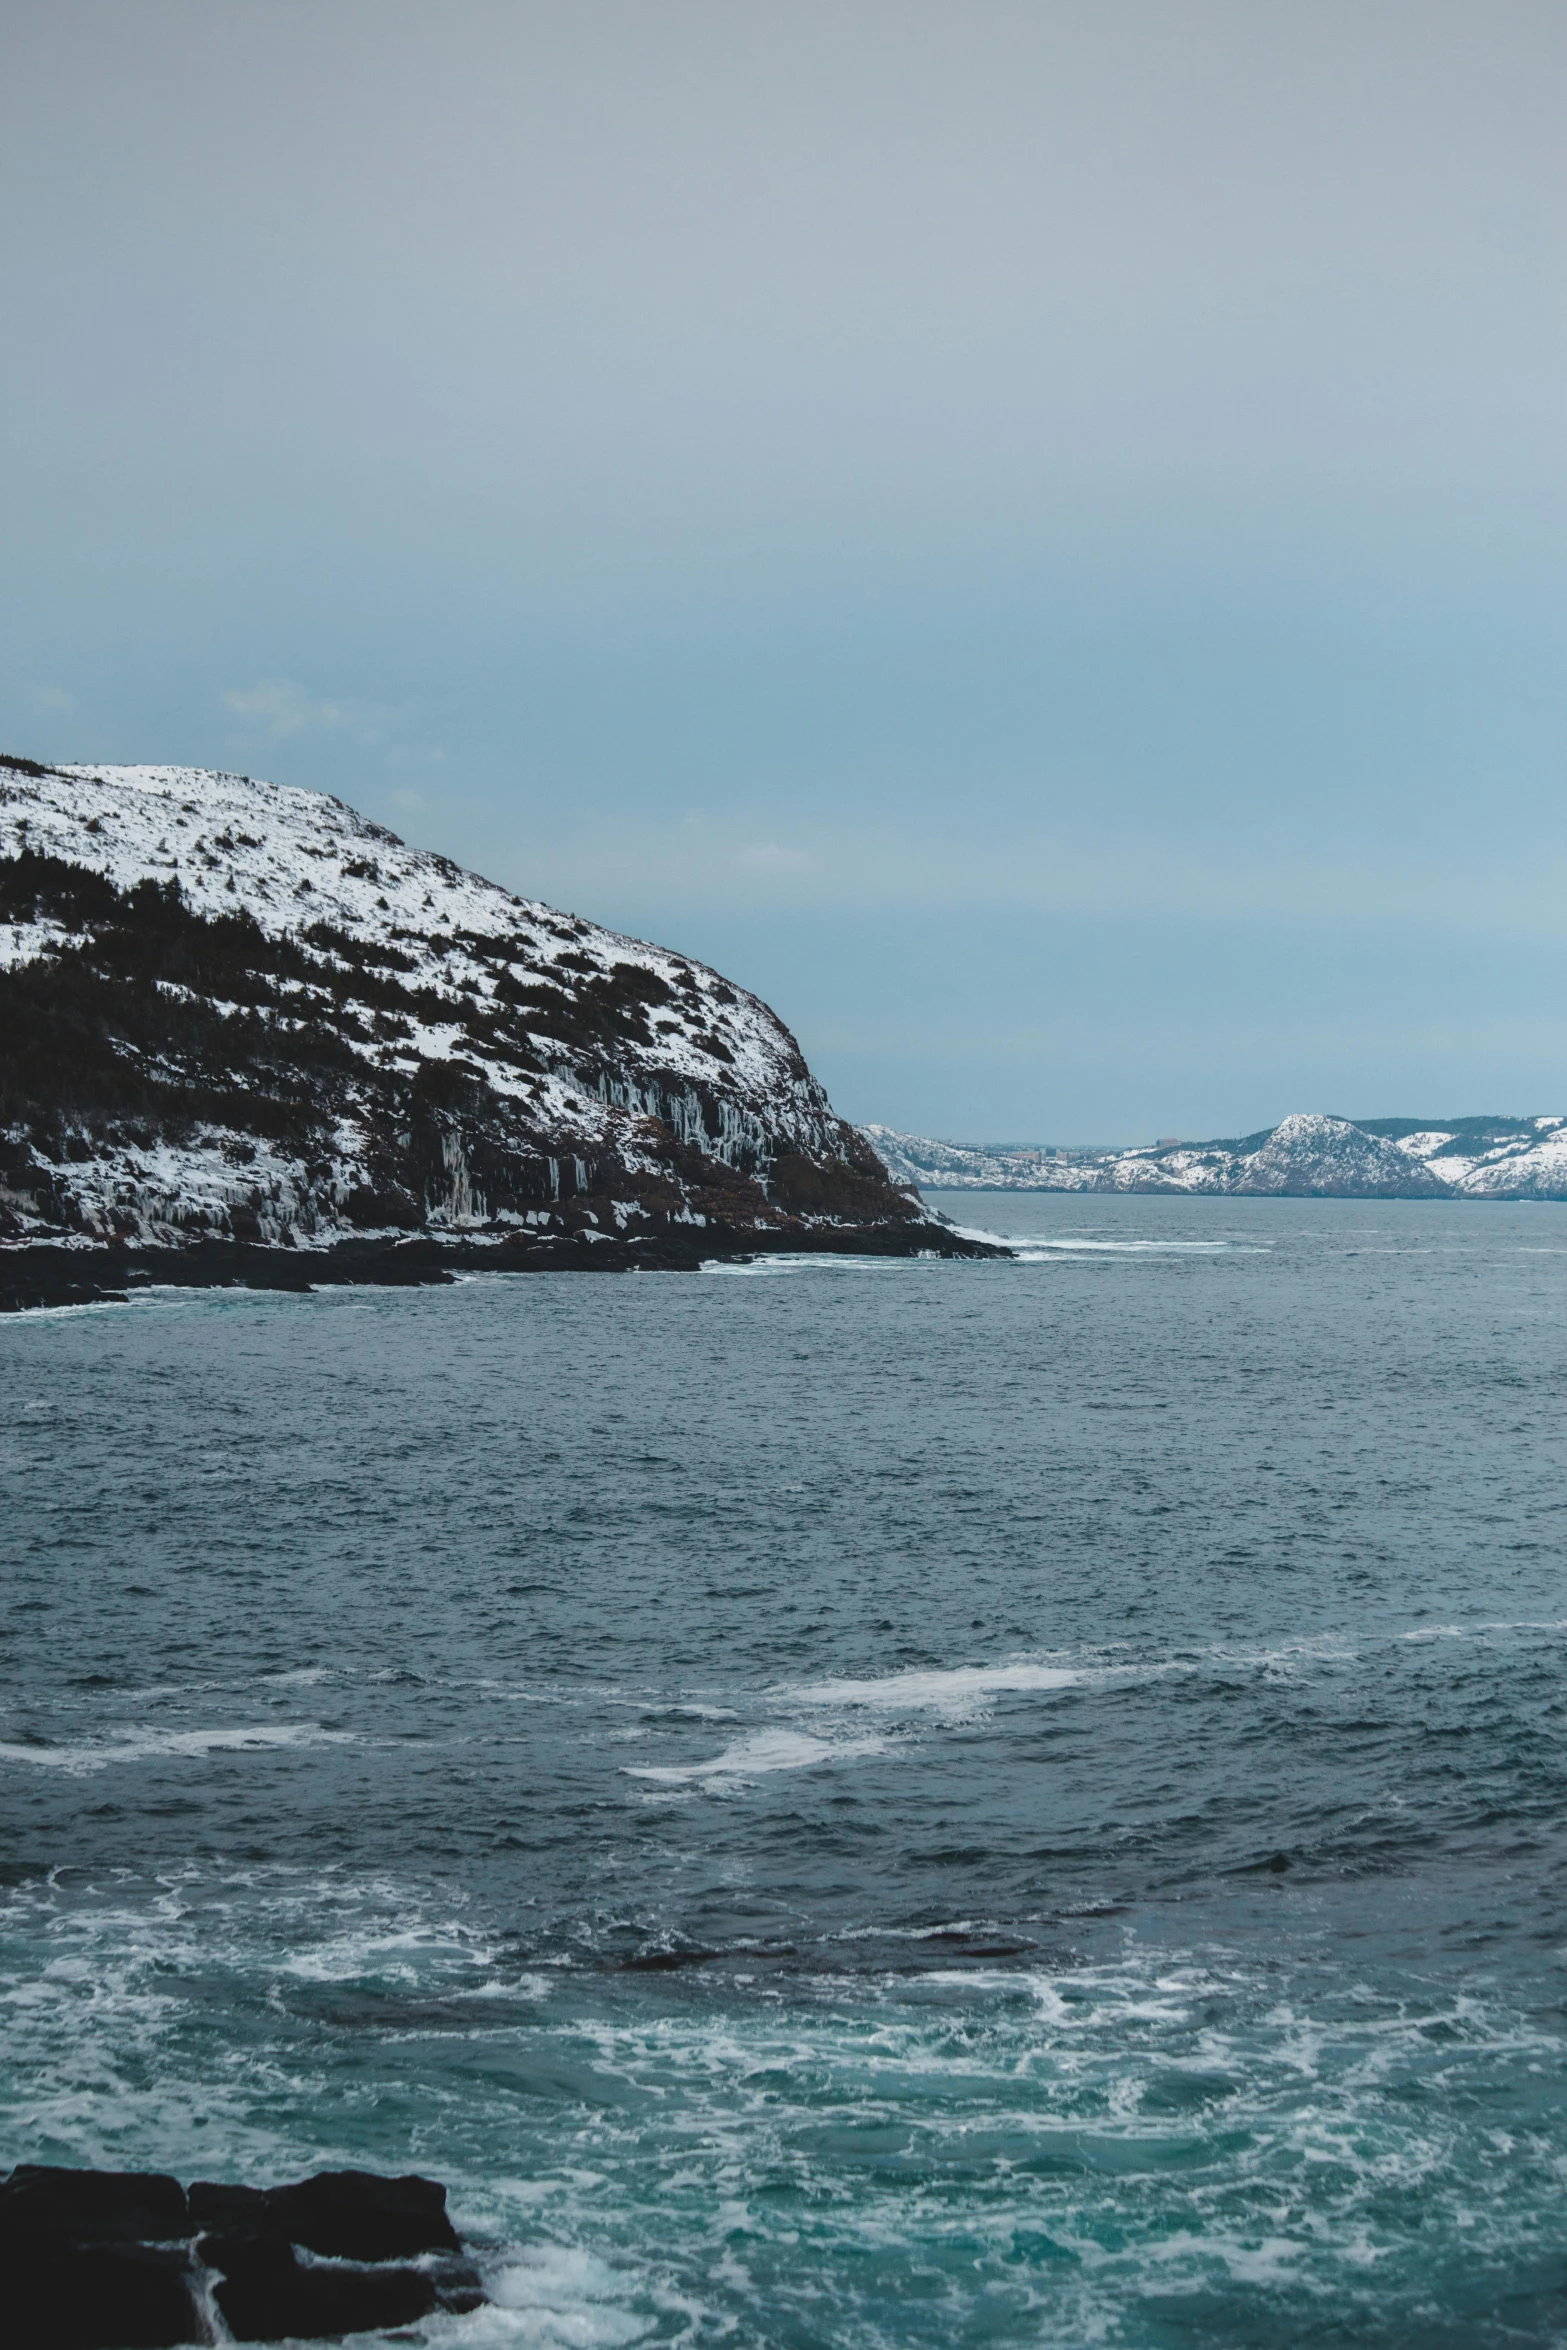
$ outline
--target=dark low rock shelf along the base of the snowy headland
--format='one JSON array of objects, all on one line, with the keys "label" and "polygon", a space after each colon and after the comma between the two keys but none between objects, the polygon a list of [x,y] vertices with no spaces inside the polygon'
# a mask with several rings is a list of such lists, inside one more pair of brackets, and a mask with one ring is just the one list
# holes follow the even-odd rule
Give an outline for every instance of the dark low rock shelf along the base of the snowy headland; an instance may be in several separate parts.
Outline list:
[{"label": "dark low rock shelf along the base of the snowy headland", "polygon": [[268,1248],[251,1241],[70,1246],[23,1241],[0,1248],[0,1314],[40,1307],[125,1304],[134,1290],[435,1288],[460,1274],[693,1274],[714,1260],[761,1255],[836,1257],[1010,1257],[944,1224],[832,1224],[822,1231],[672,1227],[641,1238],[608,1234],[517,1234],[503,1241],[336,1241],[324,1248]]}]

